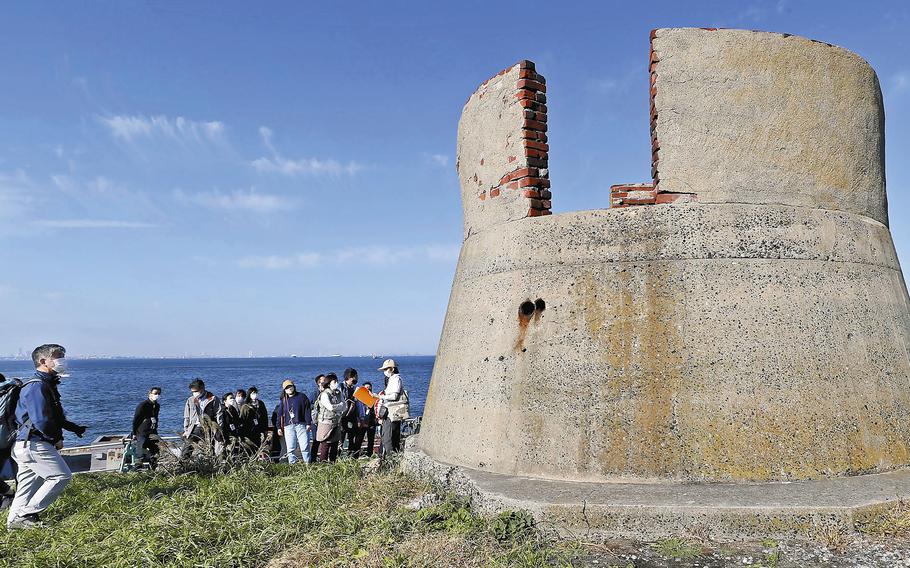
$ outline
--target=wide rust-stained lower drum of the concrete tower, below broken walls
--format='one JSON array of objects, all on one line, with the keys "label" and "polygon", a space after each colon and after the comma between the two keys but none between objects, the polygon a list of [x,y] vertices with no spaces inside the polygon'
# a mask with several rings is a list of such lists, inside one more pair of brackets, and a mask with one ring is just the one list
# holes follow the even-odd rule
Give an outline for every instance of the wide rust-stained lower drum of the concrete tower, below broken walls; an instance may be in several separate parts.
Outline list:
[{"label": "wide rust-stained lower drum of the concrete tower, below broken walls", "polygon": [[510,223],[464,245],[421,446],[575,480],[890,469],[910,448],[908,313],[887,229],[854,215],[688,204]]}]

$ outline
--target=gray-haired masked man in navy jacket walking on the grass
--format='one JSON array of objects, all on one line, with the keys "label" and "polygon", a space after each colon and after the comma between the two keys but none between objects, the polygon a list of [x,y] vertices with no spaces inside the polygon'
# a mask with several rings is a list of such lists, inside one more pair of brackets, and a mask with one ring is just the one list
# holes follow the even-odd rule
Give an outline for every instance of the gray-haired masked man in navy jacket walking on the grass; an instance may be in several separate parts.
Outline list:
[{"label": "gray-haired masked man in navy jacket walking on the grass", "polygon": [[43,526],[39,515],[63,493],[73,477],[60,456],[63,430],[80,438],[85,426],[70,422],[60,402],[57,385],[66,377],[66,349],[45,344],[32,352],[35,378],[26,381],[16,403],[19,434],[12,456],[19,466],[16,495],[10,505],[6,526],[27,529]]}]

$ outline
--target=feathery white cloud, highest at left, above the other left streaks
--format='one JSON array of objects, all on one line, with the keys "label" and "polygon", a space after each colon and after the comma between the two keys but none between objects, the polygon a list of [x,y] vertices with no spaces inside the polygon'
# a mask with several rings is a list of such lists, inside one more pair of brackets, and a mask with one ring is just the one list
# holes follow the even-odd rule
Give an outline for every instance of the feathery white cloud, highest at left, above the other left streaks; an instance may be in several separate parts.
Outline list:
[{"label": "feathery white cloud, highest at left, above the other left streaks", "polygon": [[196,144],[225,142],[226,127],[217,120],[202,122],[182,116],[123,114],[98,116],[97,119],[116,140],[128,143],[156,138]]}]

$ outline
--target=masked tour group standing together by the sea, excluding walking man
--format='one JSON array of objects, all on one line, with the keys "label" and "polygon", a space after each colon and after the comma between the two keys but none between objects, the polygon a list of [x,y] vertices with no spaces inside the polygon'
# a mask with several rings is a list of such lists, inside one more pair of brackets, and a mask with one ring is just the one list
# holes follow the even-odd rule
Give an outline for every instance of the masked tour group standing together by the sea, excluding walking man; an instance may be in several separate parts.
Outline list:
[{"label": "masked tour group standing together by the sea, excluding walking man", "polygon": [[[355,397],[356,369],[345,369],[341,380],[335,373],[316,376],[309,395],[287,379],[281,384],[270,420],[256,387],[219,398],[206,390],[202,379],[195,379],[189,384],[190,396],[183,408],[186,443],[182,455],[191,455],[200,444],[212,444],[216,453],[266,454],[291,464],[332,462],[345,446],[352,458],[372,455],[380,426],[380,451],[396,452],[401,445],[401,422],[406,418],[397,409],[406,406],[407,393],[394,360],[386,360],[379,370],[385,375],[382,391],[374,394],[372,383],[362,385],[369,394],[363,398],[375,400],[374,404]],[[136,408],[133,437],[144,455],[154,456],[158,451],[151,434],[157,433],[152,425],[157,425],[160,394],[160,388],[152,388],[149,400]]]}]

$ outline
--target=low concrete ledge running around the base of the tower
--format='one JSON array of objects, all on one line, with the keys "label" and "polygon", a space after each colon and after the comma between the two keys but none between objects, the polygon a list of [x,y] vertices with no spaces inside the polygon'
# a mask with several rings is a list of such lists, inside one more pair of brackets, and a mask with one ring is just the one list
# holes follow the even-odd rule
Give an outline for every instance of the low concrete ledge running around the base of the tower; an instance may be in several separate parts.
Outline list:
[{"label": "low concrete ledge running around the base of the tower", "polygon": [[404,452],[402,468],[470,498],[481,512],[526,510],[544,528],[595,540],[799,539],[854,532],[910,496],[907,469],[793,483],[582,483],[453,466],[414,447]]}]

